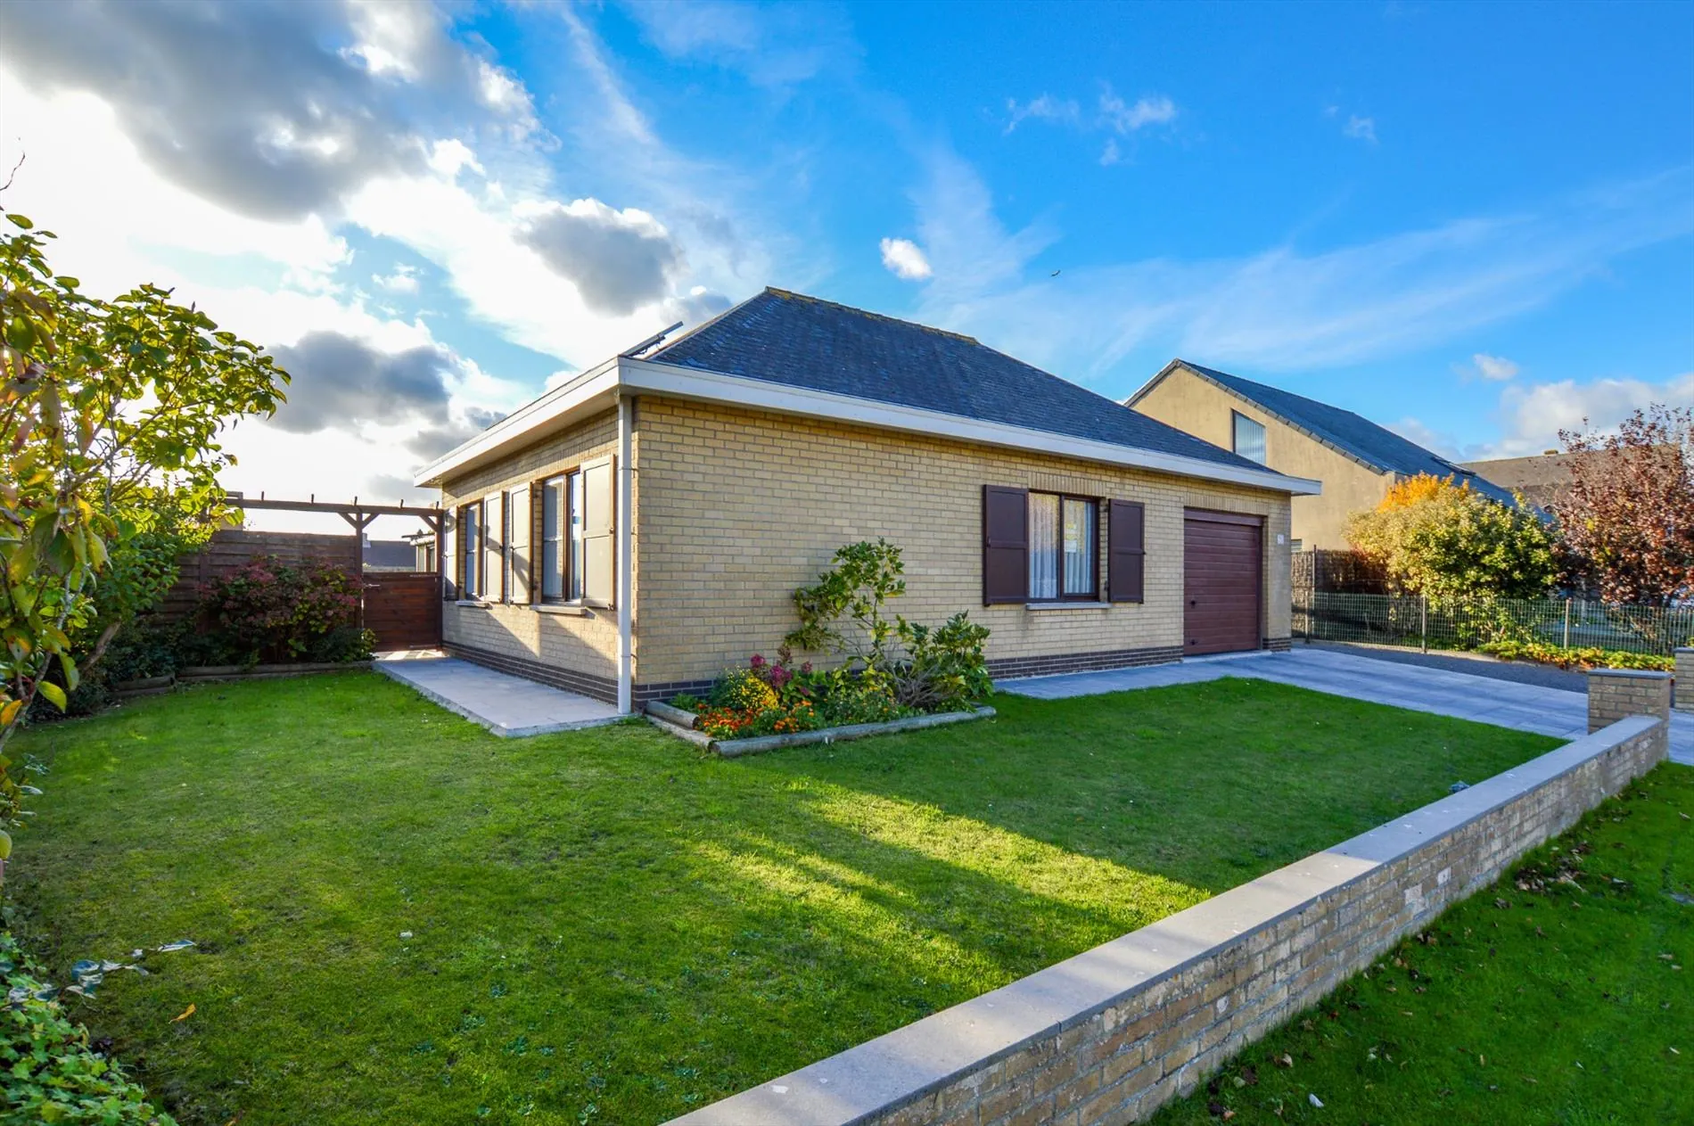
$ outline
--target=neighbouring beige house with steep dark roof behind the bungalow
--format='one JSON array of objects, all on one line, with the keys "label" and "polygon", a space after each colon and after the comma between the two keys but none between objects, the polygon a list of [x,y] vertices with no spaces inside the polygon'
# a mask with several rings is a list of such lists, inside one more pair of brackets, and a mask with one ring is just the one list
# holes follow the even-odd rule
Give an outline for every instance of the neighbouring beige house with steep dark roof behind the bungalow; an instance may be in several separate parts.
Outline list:
[{"label": "neighbouring beige house with steep dark roof behind the bungalow", "polygon": [[1296,550],[1345,549],[1348,513],[1374,508],[1420,472],[1513,503],[1506,489],[1350,410],[1184,359],[1165,364],[1125,406],[1277,472],[1321,481],[1321,494],[1294,498]]}]

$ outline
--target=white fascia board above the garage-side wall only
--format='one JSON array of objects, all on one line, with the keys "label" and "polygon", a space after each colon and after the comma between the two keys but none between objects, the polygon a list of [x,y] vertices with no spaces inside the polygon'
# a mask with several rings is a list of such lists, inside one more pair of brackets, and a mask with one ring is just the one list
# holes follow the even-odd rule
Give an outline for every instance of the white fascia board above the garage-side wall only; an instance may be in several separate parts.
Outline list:
[{"label": "white fascia board above the garage-side wall only", "polygon": [[1294,496],[1316,496],[1323,491],[1323,484],[1320,481],[1289,477],[1265,469],[1221,466],[1198,457],[1182,457],[1181,454],[1162,454],[1159,450],[1118,445],[1115,442],[1074,439],[1064,433],[1052,433],[1049,430],[1032,430],[1028,427],[1013,427],[999,422],[983,422],[977,418],[966,418],[962,415],[947,415],[933,410],[864,400],[852,395],[791,388],[779,383],[767,383],[764,379],[727,376],[715,371],[679,367],[676,364],[661,364],[647,359],[620,359],[618,367],[618,386],[632,393],[673,395],[706,403],[727,403],[750,410],[771,410],[784,415],[855,422],[884,430],[928,433],[957,439],[960,442],[981,442],[986,445],[1003,445],[1008,449],[1054,454],[1057,457],[1077,457],[1111,466],[1169,472],[1182,477],[1225,481],[1228,484],[1245,484],[1250,488],[1272,489]]}]

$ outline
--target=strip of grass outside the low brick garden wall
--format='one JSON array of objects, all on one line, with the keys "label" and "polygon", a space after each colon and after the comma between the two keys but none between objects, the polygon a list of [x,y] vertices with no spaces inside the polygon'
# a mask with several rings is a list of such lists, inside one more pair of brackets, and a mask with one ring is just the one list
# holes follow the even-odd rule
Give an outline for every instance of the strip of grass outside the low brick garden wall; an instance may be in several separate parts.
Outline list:
[{"label": "strip of grass outside the low brick garden wall", "polygon": [[1689,818],[1658,767],[1157,1126],[1694,1123]]}]

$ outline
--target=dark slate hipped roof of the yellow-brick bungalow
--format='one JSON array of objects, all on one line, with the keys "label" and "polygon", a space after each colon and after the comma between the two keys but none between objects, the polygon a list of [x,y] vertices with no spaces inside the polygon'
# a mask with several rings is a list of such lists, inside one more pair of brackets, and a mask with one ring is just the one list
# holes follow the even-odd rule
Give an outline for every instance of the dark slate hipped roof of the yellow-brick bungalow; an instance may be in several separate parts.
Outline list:
[{"label": "dark slate hipped roof of the yellow-brick bungalow", "polygon": [[1269,472],[971,337],[786,290],[642,359]]}]

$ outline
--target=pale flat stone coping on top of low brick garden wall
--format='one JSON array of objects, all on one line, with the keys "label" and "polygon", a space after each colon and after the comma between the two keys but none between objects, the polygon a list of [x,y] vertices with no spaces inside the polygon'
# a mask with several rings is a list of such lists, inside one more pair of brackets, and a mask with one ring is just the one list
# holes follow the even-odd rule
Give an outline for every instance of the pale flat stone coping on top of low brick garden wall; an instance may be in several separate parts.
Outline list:
[{"label": "pale flat stone coping on top of low brick garden wall", "polygon": [[1232,887],[1010,985],[673,1119],[676,1126],[854,1126],[1081,1024],[1535,791],[1660,720],[1630,716],[1325,852]]}]

